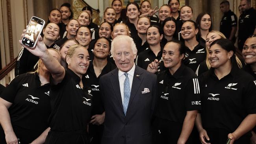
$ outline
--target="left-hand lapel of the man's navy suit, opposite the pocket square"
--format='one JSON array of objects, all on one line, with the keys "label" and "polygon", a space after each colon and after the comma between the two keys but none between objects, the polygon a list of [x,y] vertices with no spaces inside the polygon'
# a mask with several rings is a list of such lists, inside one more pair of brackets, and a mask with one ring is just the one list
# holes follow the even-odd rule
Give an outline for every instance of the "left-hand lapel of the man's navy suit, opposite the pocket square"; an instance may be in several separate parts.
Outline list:
[{"label": "left-hand lapel of the man's navy suit, opposite the pocket square", "polygon": [[117,100],[119,101],[119,104],[121,106],[122,109],[122,96],[121,96],[121,92],[120,92],[120,85],[119,85],[119,78],[118,78],[118,69],[116,68],[113,72],[112,72],[112,78],[110,78],[111,84],[113,86],[113,89],[115,91],[115,96],[117,96]]}]

